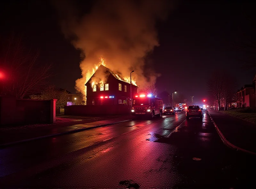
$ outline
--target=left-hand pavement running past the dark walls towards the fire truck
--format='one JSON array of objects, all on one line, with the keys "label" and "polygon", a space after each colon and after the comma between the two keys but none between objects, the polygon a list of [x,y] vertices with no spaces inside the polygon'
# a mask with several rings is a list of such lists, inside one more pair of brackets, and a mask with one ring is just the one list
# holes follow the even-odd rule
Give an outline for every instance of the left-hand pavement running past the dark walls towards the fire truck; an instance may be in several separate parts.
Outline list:
[{"label": "left-hand pavement running past the dark walls towards the fire truck", "polygon": [[109,125],[120,121],[130,120],[131,116],[106,116],[106,117],[83,117],[83,116],[56,116],[55,124],[35,124],[21,126],[0,127],[0,147],[14,143],[26,142],[70,132],[79,132],[86,129]]}]

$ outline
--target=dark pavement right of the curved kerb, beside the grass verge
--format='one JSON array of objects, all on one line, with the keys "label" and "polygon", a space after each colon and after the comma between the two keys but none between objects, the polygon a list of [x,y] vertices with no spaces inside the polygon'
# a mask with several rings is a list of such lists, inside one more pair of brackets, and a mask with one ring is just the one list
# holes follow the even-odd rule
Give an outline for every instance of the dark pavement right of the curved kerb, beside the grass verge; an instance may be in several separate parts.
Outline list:
[{"label": "dark pavement right of the curved kerb, beside the grass verge", "polygon": [[256,153],[256,126],[219,111],[208,110],[220,132],[232,146]]}]

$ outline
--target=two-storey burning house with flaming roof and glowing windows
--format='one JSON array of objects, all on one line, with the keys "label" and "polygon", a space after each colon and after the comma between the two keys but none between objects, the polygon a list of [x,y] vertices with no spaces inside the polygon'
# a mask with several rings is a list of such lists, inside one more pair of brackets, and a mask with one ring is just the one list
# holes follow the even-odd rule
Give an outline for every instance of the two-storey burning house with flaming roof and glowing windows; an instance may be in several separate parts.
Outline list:
[{"label": "two-storey burning house with flaming roof and glowing windows", "polygon": [[130,104],[131,89],[134,96],[138,88],[135,83],[131,87],[127,78],[122,78],[104,65],[98,67],[85,86],[86,105]]}]

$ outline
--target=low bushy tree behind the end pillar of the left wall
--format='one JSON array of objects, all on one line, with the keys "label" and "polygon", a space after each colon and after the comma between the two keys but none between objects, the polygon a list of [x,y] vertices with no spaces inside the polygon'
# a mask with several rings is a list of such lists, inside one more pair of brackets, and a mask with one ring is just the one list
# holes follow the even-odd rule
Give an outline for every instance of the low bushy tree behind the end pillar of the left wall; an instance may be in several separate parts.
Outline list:
[{"label": "low bushy tree behind the end pillar of the left wall", "polygon": [[67,105],[66,94],[68,94],[66,90],[56,88],[54,86],[50,86],[50,87],[47,87],[41,94],[30,95],[30,98],[36,99],[36,100],[57,99],[57,102],[56,102],[56,111],[57,111],[59,110],[59,108],[64,108],[64,106]]}]

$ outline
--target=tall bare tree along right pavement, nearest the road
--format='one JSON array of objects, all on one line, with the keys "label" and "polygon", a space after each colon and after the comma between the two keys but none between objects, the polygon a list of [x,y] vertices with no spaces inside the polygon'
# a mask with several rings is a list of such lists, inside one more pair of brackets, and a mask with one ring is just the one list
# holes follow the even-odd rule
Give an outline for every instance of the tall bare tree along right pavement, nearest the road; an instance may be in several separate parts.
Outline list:
[{"label": "tall bare tree along right pavement, nearest the road", "polygon": [[213,72],[211,78],[207,82],[209,94],[217,101],[218,110],[220,110],[220,102],[223,97],[223,77],[220,72]]}]

